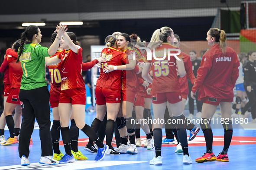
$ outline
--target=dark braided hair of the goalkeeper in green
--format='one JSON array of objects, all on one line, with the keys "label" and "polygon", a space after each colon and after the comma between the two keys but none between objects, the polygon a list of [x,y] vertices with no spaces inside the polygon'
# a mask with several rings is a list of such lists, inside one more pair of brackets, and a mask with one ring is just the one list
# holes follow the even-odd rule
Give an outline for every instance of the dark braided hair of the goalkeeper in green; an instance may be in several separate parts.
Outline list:
[{"label": "dark braided hair of the goalkeeper in green", "polygon": [[31,42],[33,40],[34,35],[38,34],[38,29],[39,28],[36,25],[29,25],[28,27],[26,27],[25,31],[21,34],[20,49],[19,49],[19,54],[18,54],[16,63],[19,63],[19,57],[22,54],[25,41],[27,40],[27,41]]}]

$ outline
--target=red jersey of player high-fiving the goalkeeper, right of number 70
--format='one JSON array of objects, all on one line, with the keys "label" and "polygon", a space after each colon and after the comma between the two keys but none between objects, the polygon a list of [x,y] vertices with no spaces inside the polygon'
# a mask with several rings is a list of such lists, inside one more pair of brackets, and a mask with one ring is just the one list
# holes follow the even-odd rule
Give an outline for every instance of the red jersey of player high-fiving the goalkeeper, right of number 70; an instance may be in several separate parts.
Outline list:
[{"label": "red jersey of player high-fiving the goalkeeper, right of number 70", "polygon": [[82,71],[82,48],[77,45],[77,54],[70,50],[63,50],[58,54],[61,62],[62,90],[82,88],[85,89],[84,79],[81,75]]}]

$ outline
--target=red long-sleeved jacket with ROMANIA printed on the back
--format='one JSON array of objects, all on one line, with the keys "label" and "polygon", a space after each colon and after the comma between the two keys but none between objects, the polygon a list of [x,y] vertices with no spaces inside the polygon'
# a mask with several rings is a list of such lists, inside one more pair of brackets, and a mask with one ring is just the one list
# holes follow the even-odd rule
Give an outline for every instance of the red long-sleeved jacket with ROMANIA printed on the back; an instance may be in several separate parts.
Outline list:
[{"label": "red long-sleeved jacket with ROMANIA printed on the back", "polygon": [[193,93],[198,91],[198,99],[206,96],[213,98],[233,98],[233,88],[238,78],[240,66],[236,52],[226,48],[223,54],[220,44],[214,44],[204,54],[197,71],[197,78],[192,88]]}]

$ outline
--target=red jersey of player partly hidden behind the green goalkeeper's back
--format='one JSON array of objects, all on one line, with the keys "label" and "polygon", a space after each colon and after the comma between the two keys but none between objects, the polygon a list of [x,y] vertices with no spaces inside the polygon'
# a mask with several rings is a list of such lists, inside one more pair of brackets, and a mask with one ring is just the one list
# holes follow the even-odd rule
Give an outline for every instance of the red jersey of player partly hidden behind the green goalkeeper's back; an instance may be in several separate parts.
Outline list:
[{"label": "red jersey of player partly hidden behind the green goalkeeper's back", "polygon": [[9,66],[9,76],[10,76],[10,88],[20,88],[21,77],[23,75],[23,70],[20,62],[16,63],[18,54],[12,49],[8,48],[6,50],[6,58]]}]

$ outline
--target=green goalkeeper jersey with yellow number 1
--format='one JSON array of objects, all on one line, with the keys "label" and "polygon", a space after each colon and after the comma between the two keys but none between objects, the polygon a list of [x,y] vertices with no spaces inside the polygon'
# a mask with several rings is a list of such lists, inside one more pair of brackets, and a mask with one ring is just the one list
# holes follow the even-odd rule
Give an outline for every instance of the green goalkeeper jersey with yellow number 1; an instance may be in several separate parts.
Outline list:
[{"label": "green goalkeeper jersey with yellow number 1", "polygon": [[40,44],[24,44],[22,54],[19,57],[23,69],[20,89],[32,90],[47,86],[45,81],[45,57],[49,57],[48,49]]}]

